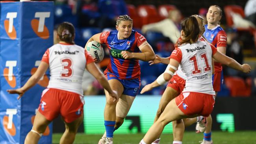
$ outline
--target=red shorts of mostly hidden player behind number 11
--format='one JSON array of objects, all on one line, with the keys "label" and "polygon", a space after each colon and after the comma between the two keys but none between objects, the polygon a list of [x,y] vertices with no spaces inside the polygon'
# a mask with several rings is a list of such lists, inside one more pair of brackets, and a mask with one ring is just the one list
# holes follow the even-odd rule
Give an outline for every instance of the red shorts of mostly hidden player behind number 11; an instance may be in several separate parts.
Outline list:
[{"label": "red shorts of mostly hidden player behind number 11", "polygon": [[173,77],[169,80],[167,87],[175,89],[180,94],[183,91],[185,84],[185,79],[180,78],[178,75],[173,75]]}]

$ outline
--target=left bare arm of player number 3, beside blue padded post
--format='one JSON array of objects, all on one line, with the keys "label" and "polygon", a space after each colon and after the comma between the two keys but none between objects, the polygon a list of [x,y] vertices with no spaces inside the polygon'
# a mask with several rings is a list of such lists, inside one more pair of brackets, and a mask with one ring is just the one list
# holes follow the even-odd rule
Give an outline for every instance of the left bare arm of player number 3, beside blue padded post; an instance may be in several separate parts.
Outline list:
[{"label": "left bare arm of player number 3, beside blue padded post", "polygon": [[19,97],[18,97],[18,100],[19,100],[28,89],[33,87],[40,80],[40,78],[42,78],[42,76],[45,74],[48,67],[49,67],[48,63],[45,63],[44,61],[42,61],[38,66],[35,74],[33,74],[28,79],[28,81],[25,83],[23,87],[21,87],[20,89],[7,90],[7,92],[9,92],[9,94],[19,94]]}]

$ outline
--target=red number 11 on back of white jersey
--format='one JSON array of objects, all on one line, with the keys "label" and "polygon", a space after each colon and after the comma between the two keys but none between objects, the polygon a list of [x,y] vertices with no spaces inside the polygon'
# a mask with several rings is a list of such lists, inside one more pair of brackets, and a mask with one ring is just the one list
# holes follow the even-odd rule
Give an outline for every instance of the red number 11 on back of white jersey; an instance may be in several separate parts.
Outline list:
[{"label": "red number 11 on back of white jersey", "polygon": [[[200,58],[201,58],[202,60],[204,60],[204,64],[205,64],[204,72],[209,72],[209,71],[211,71],[211,67],[210,67],[210,65],[209,65],[209,63],[208,63],[208,59],[207,59],[206,53],[200,54]],[[192,57],[189,58],[189,61],[190,61],[191,63],[193,63],[193,66],[194,66],[194,70],[192,70],[192,74],[193,74],[193,75],[195,75],[195,74],[200,74],[202,68],[198,68],[197,56],[196,56],[196,55],[193,55]]]}]

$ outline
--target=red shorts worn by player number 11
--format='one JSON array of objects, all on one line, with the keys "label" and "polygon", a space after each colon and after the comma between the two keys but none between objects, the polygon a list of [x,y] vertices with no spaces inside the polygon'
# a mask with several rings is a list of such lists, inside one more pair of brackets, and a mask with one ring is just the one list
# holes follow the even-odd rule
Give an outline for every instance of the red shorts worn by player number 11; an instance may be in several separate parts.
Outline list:
[{"label": "red shorts worn by player number 11", "polygon": [[187,116],[209,116],[213,110],[215,95],[199,92],[182,92],[175,98],[178,108]]}]

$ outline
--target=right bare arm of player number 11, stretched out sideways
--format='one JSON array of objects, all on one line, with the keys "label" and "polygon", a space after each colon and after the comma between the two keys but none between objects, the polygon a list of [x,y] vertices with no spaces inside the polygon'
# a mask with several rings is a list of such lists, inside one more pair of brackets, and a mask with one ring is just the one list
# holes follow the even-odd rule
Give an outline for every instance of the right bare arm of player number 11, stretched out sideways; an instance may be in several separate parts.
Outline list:
[{"label": "right bare arm of player number 11, stretched out sideways", "polygon": [[236,60],[234,60],[231,57],[228,57],[218,51],[213,55],[213,58],[224,65],[227,65],[231,68],[234,68],[234,69],[239,70],[244,73],[249,73],[251,70],[250,65],[248,65],[248,64],[240,65]]}]

